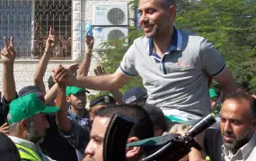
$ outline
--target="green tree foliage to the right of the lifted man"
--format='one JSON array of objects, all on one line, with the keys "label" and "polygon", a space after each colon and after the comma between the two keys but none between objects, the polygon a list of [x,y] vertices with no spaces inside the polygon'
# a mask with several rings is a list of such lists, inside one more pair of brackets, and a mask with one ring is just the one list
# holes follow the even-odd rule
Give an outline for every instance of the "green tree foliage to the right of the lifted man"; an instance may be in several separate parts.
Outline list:
[{"label": "green tree foliage to the right of the lifted man", "polygon": [[201,0],[193,9],[178,15],[179,29],[208,38],[224,55],[227,67],[238,82],[255,88],[256,1]]}]

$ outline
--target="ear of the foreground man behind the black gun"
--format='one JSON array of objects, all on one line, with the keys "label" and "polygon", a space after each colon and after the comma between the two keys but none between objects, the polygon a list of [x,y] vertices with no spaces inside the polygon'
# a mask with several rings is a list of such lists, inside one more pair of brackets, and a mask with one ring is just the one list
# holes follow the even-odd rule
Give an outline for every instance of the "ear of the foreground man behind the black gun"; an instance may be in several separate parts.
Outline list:
[{"label": "ear of the foreground man behind the black gun", "polygon": [[[131,137],[131,138],[128,138],[128,143],[135,142],[138,140],[139,139],[137,137]],[[127,154],[126,154],[127,159],[129,160],[131,158],[139,157],[138,155],[139,155],[140,151],[141,151],[140,147],[127,148]]]}]

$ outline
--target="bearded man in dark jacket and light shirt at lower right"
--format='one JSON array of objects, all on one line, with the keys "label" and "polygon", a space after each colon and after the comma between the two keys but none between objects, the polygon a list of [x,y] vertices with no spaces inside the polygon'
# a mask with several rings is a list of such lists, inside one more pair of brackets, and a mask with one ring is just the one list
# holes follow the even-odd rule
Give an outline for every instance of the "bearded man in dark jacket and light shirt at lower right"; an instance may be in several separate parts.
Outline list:
[{"label": "bearded man in dark jacket and light shirt at lower right", "polygon": [[229,94],[220,118],[220,130],[208,129],[197,137],[211,161],[255,160],[256,99],[243,91]]}]

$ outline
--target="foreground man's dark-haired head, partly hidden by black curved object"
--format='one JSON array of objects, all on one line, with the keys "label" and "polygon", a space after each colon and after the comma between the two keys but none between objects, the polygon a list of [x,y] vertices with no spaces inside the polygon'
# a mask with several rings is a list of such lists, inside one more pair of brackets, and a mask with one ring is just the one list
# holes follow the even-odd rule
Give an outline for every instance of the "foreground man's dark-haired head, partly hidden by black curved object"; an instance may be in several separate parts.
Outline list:
[{"label": "foreground man's dark-haired head, partly hidden by black curved object", "polygon": [[[91,140],[85,149],[84,161],[103,160],[103,143],[105,133],[114,114],[128,117],[135,124],[128,135],[128,143],[154,137],[154,126],[146,110],[137,105],[118,105],[99,108],[94,112]],[[121,136],[120,136],[121,137]],[[117,147],[118,148],[118,147]],[[145,150],[140,147],[126,148],[128,161],[138,160],[145,156]]]}]

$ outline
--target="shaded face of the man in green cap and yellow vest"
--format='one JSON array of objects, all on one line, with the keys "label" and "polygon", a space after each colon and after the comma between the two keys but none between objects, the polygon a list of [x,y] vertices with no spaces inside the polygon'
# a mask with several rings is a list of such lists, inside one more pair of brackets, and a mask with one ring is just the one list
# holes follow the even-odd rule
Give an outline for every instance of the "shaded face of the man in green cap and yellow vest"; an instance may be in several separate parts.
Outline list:
[{"label": "shaded face of the man in green cap and yellow vest", "polygon": [[28,140],[33,143],[39,142],[45,137],[47,129],[49,129],[49,122],[46,114],[35,114],[29,122]]}]

